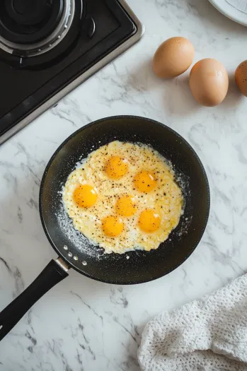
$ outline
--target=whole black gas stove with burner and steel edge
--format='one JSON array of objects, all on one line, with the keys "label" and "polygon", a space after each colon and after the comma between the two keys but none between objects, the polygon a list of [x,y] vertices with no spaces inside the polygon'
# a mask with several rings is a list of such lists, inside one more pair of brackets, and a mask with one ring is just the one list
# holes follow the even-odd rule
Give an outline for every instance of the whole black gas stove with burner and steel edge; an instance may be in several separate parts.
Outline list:
[{"label": "whole black gas stove with burner and steel edge", "polygon": [[125,0],[3,0],[0,144],[134,45]]}]

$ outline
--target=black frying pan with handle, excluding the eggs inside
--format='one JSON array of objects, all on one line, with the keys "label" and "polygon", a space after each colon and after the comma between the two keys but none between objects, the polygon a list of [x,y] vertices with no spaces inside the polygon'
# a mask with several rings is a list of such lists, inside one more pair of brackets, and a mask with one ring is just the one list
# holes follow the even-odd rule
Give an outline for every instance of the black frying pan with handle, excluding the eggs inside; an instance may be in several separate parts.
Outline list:
[{"label": "black frying pan with handle, excluding the eggs inside", "polygon": [[[185,209],[178,227],[158,249],[103,254],[61,218],[61,190],[76,163],[111,141],[150,144],[173,164],[183,189]],[[187,259],[205,231],[209,216],[207,175],[191,146],[167,126],[151,119],[118,116],[100,119],[77,130],[52,155],[40,185],[40,218],[59,257],[0,313],[0,340],[50,288],[68,276],[69,268],[84,276],[119,285],[144,283],[166,275]],[[61,220],[63,223],[61,223]],[[74,231],[74,234],[73,234]],[[81,245],[80,245],[81,244]]]}]

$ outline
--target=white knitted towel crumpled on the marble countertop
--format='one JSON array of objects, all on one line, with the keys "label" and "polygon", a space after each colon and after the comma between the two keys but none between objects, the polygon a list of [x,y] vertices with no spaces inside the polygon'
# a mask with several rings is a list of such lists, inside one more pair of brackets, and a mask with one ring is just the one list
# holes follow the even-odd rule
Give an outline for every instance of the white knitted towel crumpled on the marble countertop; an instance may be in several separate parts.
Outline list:
[{"label": "white knitted towel crumpled on the marble countertop", "polygon": [[151,320],[138,358],[143,371],[246,371],[247,274]]}]

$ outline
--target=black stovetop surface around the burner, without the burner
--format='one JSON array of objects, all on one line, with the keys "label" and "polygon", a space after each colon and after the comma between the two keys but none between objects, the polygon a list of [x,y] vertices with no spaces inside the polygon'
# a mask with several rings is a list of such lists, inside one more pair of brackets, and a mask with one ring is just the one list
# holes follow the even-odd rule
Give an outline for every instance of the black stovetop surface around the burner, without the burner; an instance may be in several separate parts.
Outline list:
[{"label": "black stovetop surface around the burner, without the burner", "polygon": [[[53,0],[48,1],[52,3]],[[39,107],[76,78],[90,71],[92,66],[98,64],[99,69],[100,61],[137,33],[139,25],[122,6],[122,1],[74,0],[74,5],[75,14],[77,12],[74,23],[64,40],[48,52],[28,57],[25,51],[11,54],[0,49],[2,138],[3,135],[7,138],[6,133],[10,129],[14,132],[13,127],[18,126],[18,123],[25,126],[30,122],[28,117],[32,112],[38,112],[33,114],[32,119],[37,117],[43,111],[39,111]],[[111,59],[116,56],[113,55]],[[104,61],[102,66],[107,62]],[[88,76],[92,73],[93,71],[88,73]],[[54,102],[55,100],[51,100],[51,104],[47,104],[44,110]]]}]

